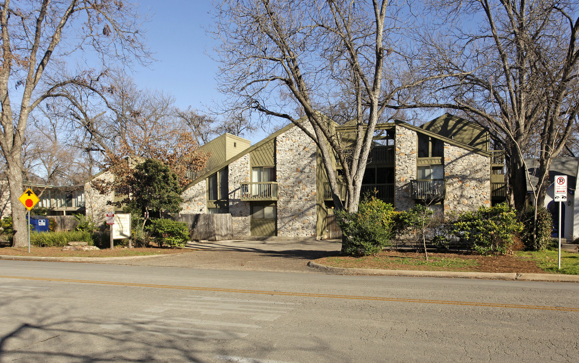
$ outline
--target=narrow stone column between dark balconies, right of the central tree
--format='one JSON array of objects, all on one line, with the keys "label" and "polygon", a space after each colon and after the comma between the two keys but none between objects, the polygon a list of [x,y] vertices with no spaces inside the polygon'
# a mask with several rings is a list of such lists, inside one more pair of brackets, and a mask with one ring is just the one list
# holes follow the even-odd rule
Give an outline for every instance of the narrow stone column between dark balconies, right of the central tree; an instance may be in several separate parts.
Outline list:
[{"label": "narrow stone column between dark balconies, right of the central tree", "polygon": [[416,205],[410,197],[410,181],[416,179],[416,133],[406,127],[395,126],[394,140],[394,207],[409,210]]}]

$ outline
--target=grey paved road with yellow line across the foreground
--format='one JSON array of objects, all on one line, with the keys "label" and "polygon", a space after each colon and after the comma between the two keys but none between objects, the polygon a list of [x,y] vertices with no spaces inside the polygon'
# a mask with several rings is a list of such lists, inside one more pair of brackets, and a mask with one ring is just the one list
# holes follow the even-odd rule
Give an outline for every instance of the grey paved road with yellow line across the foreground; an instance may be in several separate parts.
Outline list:
[{"label": "grey paved road with yellow line across the foreground", "polygon": [[579,284],[0,261],[0,362],[573,362]]}]

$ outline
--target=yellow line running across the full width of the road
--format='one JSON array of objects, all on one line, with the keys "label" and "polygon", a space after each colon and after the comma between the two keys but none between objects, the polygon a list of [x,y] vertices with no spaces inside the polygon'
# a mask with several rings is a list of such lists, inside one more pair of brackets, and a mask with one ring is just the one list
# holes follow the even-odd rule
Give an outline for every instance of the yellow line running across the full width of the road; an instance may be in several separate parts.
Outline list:
[{"label": "yellow line running across the full width of the road", "polygon": [[262,291],[262,290],[224,289],[224,288],[177,286],[177,285],[116,283],[113,281],[71,280],[68,278],[45,278],[45,277],[25,277],[25,276],[0,276],[0,278],[19,278],[21,280],[34,280],[34,281],[57,281],[57,282],[63,282],[63,283],[117,285],[117,286],[150,287],[150,288],[163,288],[163,289],[195,290],[195,291],[234,292],[236,294],[302,296],[305,298],[331,298],[331,299],[408,302],[408,303],[425,303],[425,304],[442,304],[442,305],[509,307],[512,309],[533,309],[533,310],[555,310],[555,311],[576,311],[576,312],[579,312],[579,308],[562,307],[562,306],[515,305],[515,304],[481,303],[481,302],[450,301],[450,300],[401,299],[401,298],[385,298],[385,297],[380,297],[380,296],[306,294],[303,292]]}]

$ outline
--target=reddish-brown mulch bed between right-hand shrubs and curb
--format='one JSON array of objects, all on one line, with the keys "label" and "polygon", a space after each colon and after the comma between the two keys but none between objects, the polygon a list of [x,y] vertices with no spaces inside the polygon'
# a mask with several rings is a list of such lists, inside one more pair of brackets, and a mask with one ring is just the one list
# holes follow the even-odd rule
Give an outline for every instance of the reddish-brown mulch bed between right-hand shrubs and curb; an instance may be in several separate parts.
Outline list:
[{"label": "reddish-brown mulch bed between right-hand shrubs and curb", "polygon": [[381,252],[376,256],[349,257],[333,256],[316,259],[314,262],[334,267],[384,270],[460,271],[497,273],[545,273],[537,263],[518,256],[481,256],[473,254],[416,252]]}]

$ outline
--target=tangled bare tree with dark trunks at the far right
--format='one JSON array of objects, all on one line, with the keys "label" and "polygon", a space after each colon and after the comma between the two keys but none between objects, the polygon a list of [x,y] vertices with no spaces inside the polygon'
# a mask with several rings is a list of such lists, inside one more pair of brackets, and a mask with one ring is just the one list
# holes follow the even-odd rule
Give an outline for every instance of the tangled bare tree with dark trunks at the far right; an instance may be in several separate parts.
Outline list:
[{"label": "tangled bare tree with dark trunks at the far right", "polygon": [[[422,33],[428,74],[470,72],[432,82],[403,107],[457,109],[490,127],[507,152],[512,203],[525,206],[525,157],[539,168],[537,205],[548,170],[577,121],[579,49],[573,1],[431,1],[442,15]],[[477,26],[473,27],[473,24]]]}]

